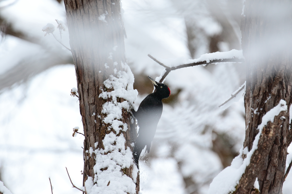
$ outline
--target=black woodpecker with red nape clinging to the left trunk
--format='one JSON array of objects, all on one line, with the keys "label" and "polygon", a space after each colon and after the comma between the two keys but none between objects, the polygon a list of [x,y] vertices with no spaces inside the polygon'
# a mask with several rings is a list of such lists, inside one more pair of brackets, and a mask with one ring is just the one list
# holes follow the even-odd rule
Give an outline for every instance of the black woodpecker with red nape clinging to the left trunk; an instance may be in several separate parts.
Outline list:
[{"label": "black woodpecker with red nape clinging to the left trunk", "polygon": [[137,166],[144,147],[146,146],[147,153],[150,151],[151,142],[162,114],[163,105],[161,100],[170,96],[170,89],[167,85],[156,82],[150,76],[148,77],[154,84],[155,91],[146,96],[140,103],[137,112],[134,112],[139,126],[138,137],[135,140],[133,151],[134,162]]}]

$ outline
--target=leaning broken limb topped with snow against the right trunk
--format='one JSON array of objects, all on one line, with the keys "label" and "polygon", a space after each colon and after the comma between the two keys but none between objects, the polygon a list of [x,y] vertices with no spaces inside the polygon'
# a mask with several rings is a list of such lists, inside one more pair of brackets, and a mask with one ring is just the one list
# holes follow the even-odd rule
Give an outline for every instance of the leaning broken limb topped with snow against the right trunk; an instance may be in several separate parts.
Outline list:
[{"label": "leaning broken limb topped with snow against the right trunk", "polygon": [[[287,113],[287,105],[285,100],[280,100],[279,104],[268,111],[262,118],[261,124],[258,126],[258,134],[253,140],[252,148],[248,150],[247,147],[241,148],[239,156],[235,157],[230,166],[226,167],[220,172],[210,184],[209,194],[227,194],[235,193],[250,193],[246,189],[247,181],[253,179],[253,176],[257,175],[253,168],[257,168],[257,165],[263,165],[262,156],[268,154],[270,145],[275,139],[275,135],[279,133],[281,125],[284,120],[284,114]],[[242,158],[241,155],[245,157]],[[250,181],[249,184],[254,185],[254,181]]]}]

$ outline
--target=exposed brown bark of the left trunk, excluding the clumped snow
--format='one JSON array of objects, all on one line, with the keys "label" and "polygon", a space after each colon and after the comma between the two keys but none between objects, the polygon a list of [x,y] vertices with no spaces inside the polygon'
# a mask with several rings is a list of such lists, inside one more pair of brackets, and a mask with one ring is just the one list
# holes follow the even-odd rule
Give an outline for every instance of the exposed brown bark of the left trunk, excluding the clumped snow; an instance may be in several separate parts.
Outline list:
[{"label": "exposed brown bark of the left trunk, excluding the clumped snow", "polygon": [[[87,177],[94,178],[93,166],[95,157],[86,152],[90,147],[104,149],[102,140],[109,130],[105,124],[102,105],[111,98],[103,99],[98,96],[103,91],[112,91],[104,86],[103,82],[122,69],[121,63],[126,63],[124,24],[121,16],[119,0],[65,0],[67,24],[69,29],[70,47],[76,69],[80,113],[84,128],[84,182]],[[117,64],[114,62],[117,61]],[[118,98],[123,102],[123,98]],[[126,132],[120,131],[126,139],[125,148],[131,148],[137,133],[135,123],[132,124],[131,113],[123,109],[122,122],[128,125]],[[95,142],[98,145],[95,147]],[[101,169],[105,170],[105,169]],[[133,165],[122,169],[123,173],[132,178]],[[139,175],[136,182],[136,191],[139,191]]]}]

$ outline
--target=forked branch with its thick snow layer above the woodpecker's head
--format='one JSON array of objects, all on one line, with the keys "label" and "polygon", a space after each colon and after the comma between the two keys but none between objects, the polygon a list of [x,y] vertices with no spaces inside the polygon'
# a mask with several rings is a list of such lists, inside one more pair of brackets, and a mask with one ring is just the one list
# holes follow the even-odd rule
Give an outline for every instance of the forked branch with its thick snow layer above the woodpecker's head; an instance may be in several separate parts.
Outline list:
[{"label": "forked branch with its thick snow layer above the woodpecker's head", "polygon": [[165,77],[170,73],[172,70],[184,68],[184,67],[192,67],[197,65],[208,65],[212,63],[242,63],[244,62],[244,57],[242,55],[242,50],[231,50],[228,52],[214,52],[214,53],[207,53],[201,55],[198,59],[169,59],[165,60],[166,62],[170,62],[169,66],[164,65],[164,63],[161,63],[154,57],[152,57],[150,54],[148,54],[148,57],[153,59],[155,62],[157,62],[159,65],[163,66],[165,68],[163,75],[161,73],[161,78],[159,82],[163,82]]}]

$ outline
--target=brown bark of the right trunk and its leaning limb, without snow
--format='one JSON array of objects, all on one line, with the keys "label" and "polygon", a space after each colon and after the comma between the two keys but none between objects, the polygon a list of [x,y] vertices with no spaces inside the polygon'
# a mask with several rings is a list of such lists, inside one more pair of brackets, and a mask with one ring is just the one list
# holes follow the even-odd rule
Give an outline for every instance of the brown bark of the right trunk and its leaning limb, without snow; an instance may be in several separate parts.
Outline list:
[{"label": "brown bark of the right trunk and its leaning limb, without snow", "polygon": [[[248,151],[263,116],[286,101],[280,112],[263,128],[258,149],[253,153],[234,193],[255,193],[258,177],[262,194],[282,193],[289,135],[289,107],[292,102],[291,1],[246,0],[241,21],[242,49],[246,59],[246,136]],[[243,158],[246,155],[242,155]]]}]

